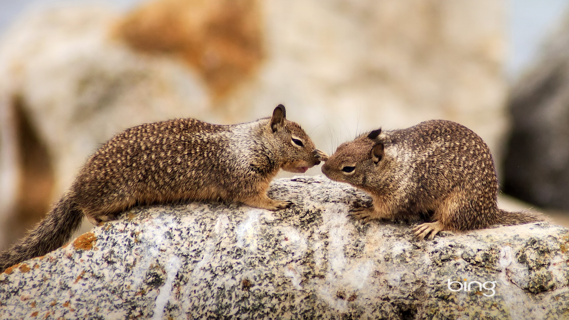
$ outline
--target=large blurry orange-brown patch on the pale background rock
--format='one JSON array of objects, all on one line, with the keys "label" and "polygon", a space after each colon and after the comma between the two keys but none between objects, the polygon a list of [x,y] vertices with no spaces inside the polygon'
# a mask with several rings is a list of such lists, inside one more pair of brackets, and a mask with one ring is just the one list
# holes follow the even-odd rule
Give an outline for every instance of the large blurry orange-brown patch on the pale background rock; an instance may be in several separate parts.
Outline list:
[{"label": "large blurry orange-brown patch on the pale background rock", "polygon": [[182,59],[216,101],[256,73],[262,26],[259,0],[158,0],[126,15],[113,34],[134,50]]}]

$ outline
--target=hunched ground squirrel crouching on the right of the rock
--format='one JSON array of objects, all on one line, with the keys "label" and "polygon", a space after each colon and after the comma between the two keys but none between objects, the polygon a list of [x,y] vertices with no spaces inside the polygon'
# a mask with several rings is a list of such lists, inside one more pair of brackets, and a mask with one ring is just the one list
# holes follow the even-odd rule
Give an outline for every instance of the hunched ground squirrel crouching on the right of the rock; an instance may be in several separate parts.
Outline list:
[{"label": "hunched ground squirrel crouching on the right of the rock", "polygon": [[430,216],[434,222],[414,228],[419,239],[433,239],[444,230],[544,220],[534,212],[497,207],[498,183],[488,146],[472,130],[452,121],[431,120],[407,129],[362,134],[340,145],[322,172],[372,195],[373,208],[351,210],[348,216],[353,219]]}]

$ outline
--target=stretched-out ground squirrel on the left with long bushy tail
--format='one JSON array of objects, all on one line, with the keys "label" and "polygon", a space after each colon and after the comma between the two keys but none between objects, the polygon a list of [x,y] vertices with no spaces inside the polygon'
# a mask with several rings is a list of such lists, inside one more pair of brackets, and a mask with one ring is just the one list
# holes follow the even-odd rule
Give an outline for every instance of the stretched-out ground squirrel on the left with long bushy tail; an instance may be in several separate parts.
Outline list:
[{"label": "stretched-out ground squirrel on the left with long bushy tail", "polygon": [[50,213],[18,244],[0,253],[0,272],[63,245],[80,226],[117,219],[138,204],[213,200],[276,211],[270,199],[279,170],[304,173],[325,154],[278,105],[272,117],[237,125],[192,118],[143,124],[106,142],[79,171]]}]

